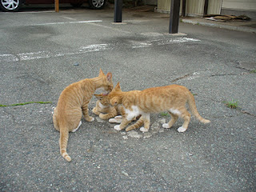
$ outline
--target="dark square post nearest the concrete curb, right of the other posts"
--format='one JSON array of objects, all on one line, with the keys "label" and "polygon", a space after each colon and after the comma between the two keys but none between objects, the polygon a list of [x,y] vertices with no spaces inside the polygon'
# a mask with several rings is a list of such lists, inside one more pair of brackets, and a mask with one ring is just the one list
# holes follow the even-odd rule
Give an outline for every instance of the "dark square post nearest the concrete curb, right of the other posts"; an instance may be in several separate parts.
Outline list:
[{"label": "dark square post nearest the concrete curb, right of the other posts", "polygon": [[171,0],[169,34],[178,34],[180,0]]}]

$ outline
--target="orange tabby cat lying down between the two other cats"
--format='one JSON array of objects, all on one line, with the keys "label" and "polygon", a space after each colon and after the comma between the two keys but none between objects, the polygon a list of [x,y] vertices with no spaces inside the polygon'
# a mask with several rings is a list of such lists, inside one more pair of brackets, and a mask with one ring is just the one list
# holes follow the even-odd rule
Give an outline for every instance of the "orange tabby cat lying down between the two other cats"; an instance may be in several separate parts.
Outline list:
[{"label": "orange tabby cat lying down between the two other cats", "polygon": [[[106,96],[106,94],[94,94],[94,96],[98,99],[96,102],[96,106],[93,109],[93,113],[97,114],[99,118],[102,119],[110,119],[109,122],[122,122],[122,117],[126,116],[126,111],[122,107],[122,105],[111,106],[110,100]],[[121,114],[122,116],[116,116]],[[141,115],[140,115],[141,116]],[[137,117],[134,117],[133,121],[136,120]],[[137,129],[138,127],[143,125],[142,118],[138,119],[134,125],[129,126],[130,130]]]}]

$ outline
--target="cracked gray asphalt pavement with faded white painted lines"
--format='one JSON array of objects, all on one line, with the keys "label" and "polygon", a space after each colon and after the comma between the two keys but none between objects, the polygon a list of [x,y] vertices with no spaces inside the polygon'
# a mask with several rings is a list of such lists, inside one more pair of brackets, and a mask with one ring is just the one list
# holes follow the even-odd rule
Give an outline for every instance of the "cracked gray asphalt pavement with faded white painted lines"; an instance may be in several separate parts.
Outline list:
[{"label": "cracked gray asphalt pavement with faded white painted lines", "polygon": [[[256,35],[181,22],[186,36],[172,36],[166,14],[124,10],[126,25],[112,24],[113,15],[87,7],[0,12],[0,189],[255,191]],[[99,68],[125,91],[187,86],[210,125],[192,118],[181,134],[181,120],[164,130],[169,117],[152,114],[149,133],[126,133],[93,114],[70,133],[66,162],[52,107]],[[238,109],[223,103],[232,99]],[[24,102],[52,103],[8,106]]]}]

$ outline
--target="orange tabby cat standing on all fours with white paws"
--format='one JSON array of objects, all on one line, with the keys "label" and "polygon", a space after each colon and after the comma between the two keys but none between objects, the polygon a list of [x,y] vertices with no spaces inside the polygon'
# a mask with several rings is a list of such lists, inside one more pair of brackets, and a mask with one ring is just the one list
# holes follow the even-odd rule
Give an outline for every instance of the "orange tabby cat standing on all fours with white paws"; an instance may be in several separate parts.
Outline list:
[{"label": "orange tabby cat standing on all fours with white paws", "polygon": [[[168,111],[171,119],[170,122],[163,124],[164,128],[170,128],[177,121],[178,117],[184,119],[184,123],[178,128],[178,132],[184,132],[190,122],[190,113],[186,110],[186,102],[190,106],[190,110],[200,122],[209,123],[210,121],[202,118],[198,114],[195,106],[194,96],[185,86],[170,85],[158,86],[146,90],[131,90],[122,92],[120,84],[108,94],[110,104],[116,106],[122,104],[126,111],[126,118],[123,118],[122,123],[114,126],[115,130],[123,130],[130,120],[138,114],[142,114],[144,127],[140,130],[147,132],[150,128],[150,113],[158,113]],[[126,128],[126,131],[130,128]]]}]

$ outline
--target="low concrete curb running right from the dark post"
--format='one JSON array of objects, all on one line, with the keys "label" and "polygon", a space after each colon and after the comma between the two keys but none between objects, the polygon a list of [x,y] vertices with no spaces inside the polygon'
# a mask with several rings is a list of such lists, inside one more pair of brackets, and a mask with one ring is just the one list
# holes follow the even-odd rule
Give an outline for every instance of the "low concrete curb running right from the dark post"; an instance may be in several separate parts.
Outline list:
[{"label": "low concrete curb running right from the dark post", "polygon": [[226,30],[238,30],[238,31],[243,31],[243,32],[256,33],[256,29],[247,27],[247,26],[230,26],[230,25],[223,25],[223,24],[219,24],[219,23],[198,22],[198,21],[193,21],[190,19],[182,19],[182,22],[190,23],[193,25],[218,27],[218,28],[222,28],[222,29],[226,29]]}]

